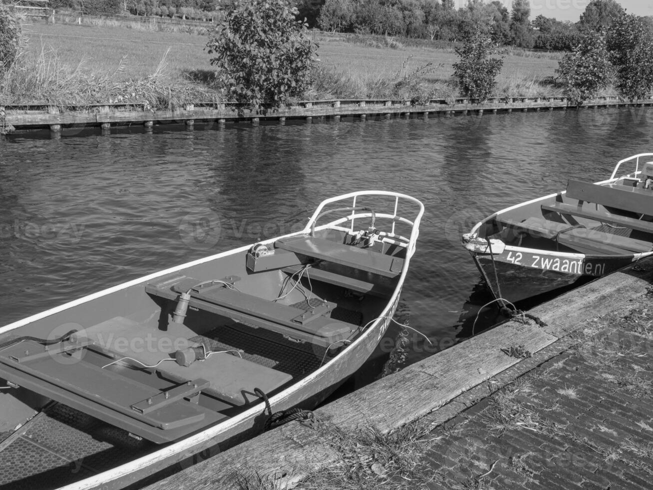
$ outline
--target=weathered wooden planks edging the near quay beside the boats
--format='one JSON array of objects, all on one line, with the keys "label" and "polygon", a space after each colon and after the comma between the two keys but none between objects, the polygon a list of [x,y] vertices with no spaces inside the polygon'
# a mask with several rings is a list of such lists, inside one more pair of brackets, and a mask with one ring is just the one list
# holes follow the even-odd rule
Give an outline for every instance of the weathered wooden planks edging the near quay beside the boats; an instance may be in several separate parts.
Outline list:
[{"label": "weathered wooden planks edging the near quay beside the boats", "polygon": [[[375,426],[387,432],[426,415],[432,425],[443,423],[492,389],[581,342],[593,318],[632,308],[631,301],[645,294],[652,281],[653,259],[647,259],[531,310],[547,327],[503,323],[323,406],[315,415],[343,431]],[[533,357],[503,353],[515,344]],[[325,432],[320,425],[312,430],[298,423],[278,427],[144,490],[232,489],[239,487],[236,474],[253,472],[276,481],[279,488],[292,487],[306,474],[340,461],[329,444],[328,428]]]}]

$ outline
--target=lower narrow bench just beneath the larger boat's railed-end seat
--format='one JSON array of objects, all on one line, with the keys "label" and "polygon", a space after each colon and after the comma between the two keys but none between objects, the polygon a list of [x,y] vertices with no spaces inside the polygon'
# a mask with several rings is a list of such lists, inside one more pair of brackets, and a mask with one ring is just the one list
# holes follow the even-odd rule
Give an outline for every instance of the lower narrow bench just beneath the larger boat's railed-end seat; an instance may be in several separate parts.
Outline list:
[{"label": "lower narrow bench just beneath the larger boat's railed-end seat", "polygon": [[[291,265],[284,267],[283,272],[287,274],[298,274],[300,270],[304,269],[303,265]],[[365,272],[359,269],[347,269],[346,267],[338,267],[338,264],[331,263],[317,263],[311,265],[308,269],[308,277],[311,280],[333,284],[334,286],[344,287],[351,289],[358,293],[370,294],[381,298],[392,296],[396,284],[389,278],[383,278],[375,275],[372,278],[370,272]]]}]

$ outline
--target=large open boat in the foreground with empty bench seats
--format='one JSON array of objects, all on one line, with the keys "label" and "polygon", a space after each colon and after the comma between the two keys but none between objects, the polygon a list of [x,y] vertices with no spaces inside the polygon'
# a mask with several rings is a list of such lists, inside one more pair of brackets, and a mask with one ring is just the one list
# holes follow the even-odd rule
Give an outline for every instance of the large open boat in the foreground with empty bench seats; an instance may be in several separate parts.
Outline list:
[{"label": "large open boat in the foreground with empty bench seats", "polygon": [[423,212],[334,197],[298,233],[1,328],[0,487],[124,487],[259,433],[265,397],[313,408],[385,333]]}]

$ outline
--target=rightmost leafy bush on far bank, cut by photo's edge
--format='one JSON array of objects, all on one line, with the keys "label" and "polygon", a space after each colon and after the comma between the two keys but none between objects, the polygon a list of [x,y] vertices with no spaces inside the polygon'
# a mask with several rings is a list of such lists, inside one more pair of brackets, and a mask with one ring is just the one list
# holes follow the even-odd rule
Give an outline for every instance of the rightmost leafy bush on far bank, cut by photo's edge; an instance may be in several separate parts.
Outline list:
[{"label": "rightmost leafy bush on far bank, cut by photo's edge", "polygon": [[614,86],[628,99],[645,99],[653,88],[653,34],[641,18],[622,14],[610,25],[607,49],[614,66]]}]

